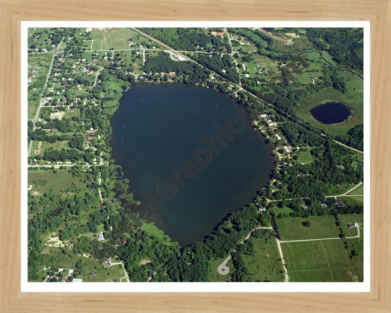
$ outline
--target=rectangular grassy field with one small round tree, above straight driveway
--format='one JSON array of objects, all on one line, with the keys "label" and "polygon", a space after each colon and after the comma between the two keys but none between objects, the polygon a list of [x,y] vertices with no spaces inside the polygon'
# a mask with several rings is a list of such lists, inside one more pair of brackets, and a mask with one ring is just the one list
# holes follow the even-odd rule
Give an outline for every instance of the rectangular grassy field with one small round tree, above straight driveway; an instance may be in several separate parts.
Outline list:
[{"label": "rectangular grassy field with one small round tree, above straight driveway", "polygon": [[[303,226],[310,221],[310,227]],[[320,239],[338,237],[339,229],[332,215],[310,216],[310,218],[279,219],[281,240]]]}]

